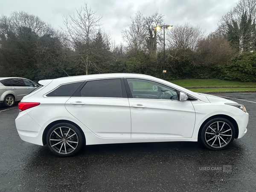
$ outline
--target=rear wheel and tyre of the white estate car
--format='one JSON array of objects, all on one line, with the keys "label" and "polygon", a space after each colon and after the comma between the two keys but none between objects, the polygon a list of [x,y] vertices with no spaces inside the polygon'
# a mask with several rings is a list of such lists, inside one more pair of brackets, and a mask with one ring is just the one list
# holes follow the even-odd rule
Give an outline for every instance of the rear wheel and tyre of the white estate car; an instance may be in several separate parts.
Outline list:
[{"label": "rear wheel and tyre of the white estate car", "polygon": [[80,130],[69,123],[58,123],[47,133],[47,145],[55,155],[69,157],[76,154],[83,144]]}]

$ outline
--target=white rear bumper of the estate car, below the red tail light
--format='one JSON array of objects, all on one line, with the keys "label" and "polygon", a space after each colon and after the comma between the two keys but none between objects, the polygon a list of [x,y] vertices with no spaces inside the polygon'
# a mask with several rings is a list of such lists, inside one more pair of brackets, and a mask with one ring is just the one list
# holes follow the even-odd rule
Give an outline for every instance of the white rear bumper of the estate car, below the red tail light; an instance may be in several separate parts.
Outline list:
[{"label": "white rear bumper of the estate car, below the red tail light", "polygon": [[44,130],[29,116],[26,111],[19,113],[15,119],[17,132],[23,141],[43,145]]}]

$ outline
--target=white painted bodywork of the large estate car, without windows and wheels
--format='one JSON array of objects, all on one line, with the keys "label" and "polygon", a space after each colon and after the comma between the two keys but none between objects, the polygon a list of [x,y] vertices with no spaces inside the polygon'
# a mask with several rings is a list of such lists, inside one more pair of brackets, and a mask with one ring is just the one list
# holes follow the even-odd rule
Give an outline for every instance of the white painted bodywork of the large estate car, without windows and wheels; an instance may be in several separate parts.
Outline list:
[{"label": "white painted bodywork of the large estate car, without windows and wheels", "polygon": [[[46,94],[61,84],[110,78],[138,78],[173,87],[196,101],[96,97],[47,97]],[[29,143],[43,145],[47,126],[58,120],[78,125],[86,144],[140,143],[165,141],[197,141],[204,121],[215,115],[226,115],[238,124],[241,138],[247,131],[248,113],[224,103],[227,99],[194,93],[162,79],[139,74],[113,73],[66,77],[39,81],[43,88],[25,96],[22,102],[41,104],[22,111],[15,123],[20,138]],[[71,105],[81,102],[85,105]],[[145,106],[134,108],[132,106]]]}]

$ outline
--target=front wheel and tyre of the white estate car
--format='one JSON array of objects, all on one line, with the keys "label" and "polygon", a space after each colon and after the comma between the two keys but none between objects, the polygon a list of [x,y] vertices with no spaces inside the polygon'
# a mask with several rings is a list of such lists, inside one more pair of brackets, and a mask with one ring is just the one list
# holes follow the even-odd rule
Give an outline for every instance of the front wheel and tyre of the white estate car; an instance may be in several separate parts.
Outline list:
[{"label": "front wheel and tyre of the white estate car", "polygon": [[221,150],[234,140],[235,128],[229,120],[215,118],[204,125],[200,137],[207,148]]}]

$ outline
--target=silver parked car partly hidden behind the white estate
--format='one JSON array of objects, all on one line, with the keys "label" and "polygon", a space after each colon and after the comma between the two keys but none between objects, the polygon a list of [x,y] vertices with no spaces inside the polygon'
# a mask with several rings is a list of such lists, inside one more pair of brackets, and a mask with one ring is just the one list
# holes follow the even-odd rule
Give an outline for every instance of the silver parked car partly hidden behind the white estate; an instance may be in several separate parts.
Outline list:
[{"label": "silver parked car partly hidden behind the white estate", "polygon": [[39,85],[29,79],[0,77],[0,103],[11,107]]}]

